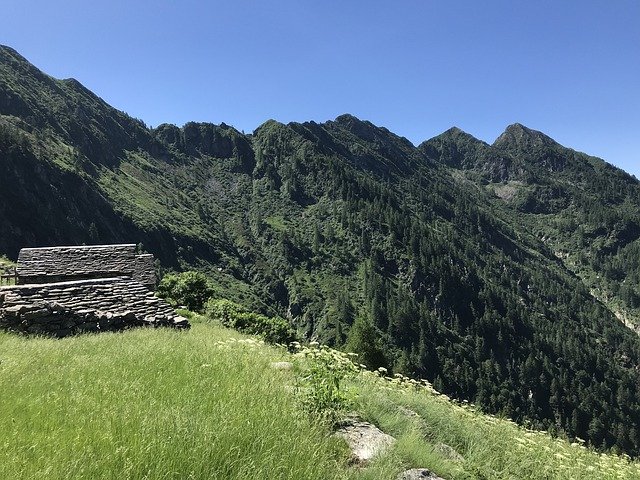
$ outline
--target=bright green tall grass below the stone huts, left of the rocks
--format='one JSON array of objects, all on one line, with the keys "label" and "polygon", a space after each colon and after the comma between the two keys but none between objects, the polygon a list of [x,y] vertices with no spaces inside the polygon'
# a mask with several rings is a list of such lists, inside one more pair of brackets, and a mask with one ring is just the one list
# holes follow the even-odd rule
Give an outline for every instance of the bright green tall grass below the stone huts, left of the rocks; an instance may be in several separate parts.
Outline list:
[{"label": "bright green tall grass below the stone huts, left of the rocks", "polygon": [[[0,478],[340,478],[347,453],[227,330],[0,333]],[[224,341],[226,340],[226,342]]]}]

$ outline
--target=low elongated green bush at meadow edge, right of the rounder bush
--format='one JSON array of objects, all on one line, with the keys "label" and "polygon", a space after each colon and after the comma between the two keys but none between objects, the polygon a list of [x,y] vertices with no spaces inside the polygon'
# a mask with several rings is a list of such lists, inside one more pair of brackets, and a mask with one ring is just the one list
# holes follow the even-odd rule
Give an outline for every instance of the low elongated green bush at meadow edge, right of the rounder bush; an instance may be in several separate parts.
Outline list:
[{"label": "low elongated green bush at meadow edge, right of the rounder bush", "polygon": [[242,305],[223,299],[210,299],[205,310],[207,317],[212,320],[218,320],[224,326],[243,333],[260,335],[269,343],[288,345],[296,340],[289,322],[281,317],[267,317],[250,312]]}]

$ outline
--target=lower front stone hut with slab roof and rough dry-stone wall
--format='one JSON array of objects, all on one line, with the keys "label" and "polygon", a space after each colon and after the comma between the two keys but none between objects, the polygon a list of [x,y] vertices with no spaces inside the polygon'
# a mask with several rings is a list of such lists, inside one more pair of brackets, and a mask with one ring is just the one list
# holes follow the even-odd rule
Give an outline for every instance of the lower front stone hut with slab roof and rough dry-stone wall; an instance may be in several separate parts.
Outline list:
[{"label": "lower front stone hut with slab roof and rough dry-stone wall", "polygon": [[131,278],[0,288],[0,328],[64,337],[134,326],[189,328],[164,300]]}]

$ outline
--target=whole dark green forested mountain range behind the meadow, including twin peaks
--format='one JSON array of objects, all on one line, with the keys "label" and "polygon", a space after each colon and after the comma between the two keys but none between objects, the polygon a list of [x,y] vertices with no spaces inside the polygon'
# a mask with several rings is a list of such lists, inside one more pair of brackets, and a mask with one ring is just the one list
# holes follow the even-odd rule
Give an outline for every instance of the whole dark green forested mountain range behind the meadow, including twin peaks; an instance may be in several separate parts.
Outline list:
[{"label": "whole dark green forested mountain range behind the meadow, including twin peaks", "polygon": [[150,129],[0,48],[0,254],[140,241],[308,337],[631,454],[640,340],[614,309],[637,307],[639,188],[520,125]]}]

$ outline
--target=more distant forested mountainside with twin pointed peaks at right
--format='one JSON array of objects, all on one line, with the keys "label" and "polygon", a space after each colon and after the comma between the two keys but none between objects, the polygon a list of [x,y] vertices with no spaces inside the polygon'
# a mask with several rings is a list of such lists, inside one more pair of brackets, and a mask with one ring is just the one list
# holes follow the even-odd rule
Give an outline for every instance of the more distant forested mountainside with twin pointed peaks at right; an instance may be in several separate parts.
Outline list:
[{"label": "more distant forested mountainside with twin pointed peaks at right", "polygon": [[425,154],[483,187],[630,327],[640,318],[640,184],[602,160],[515,124],[492,146],[460,131]]}]

